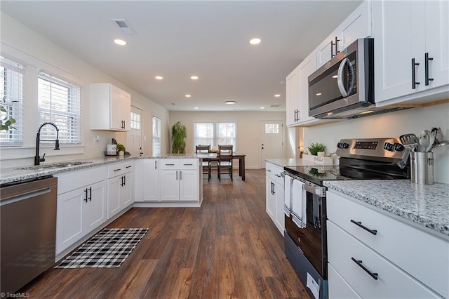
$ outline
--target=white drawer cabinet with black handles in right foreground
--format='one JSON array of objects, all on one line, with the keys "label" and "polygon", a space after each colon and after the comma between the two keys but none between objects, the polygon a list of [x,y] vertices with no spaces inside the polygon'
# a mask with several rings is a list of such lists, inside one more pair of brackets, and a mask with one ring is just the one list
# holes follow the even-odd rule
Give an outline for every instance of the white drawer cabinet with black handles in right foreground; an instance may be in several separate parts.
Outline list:
[{"label": "white drawer cabinet with black handles in right foreground", "polygon": [[447,239],[335,190],[327,213],[330,298],[448,298]]}]

